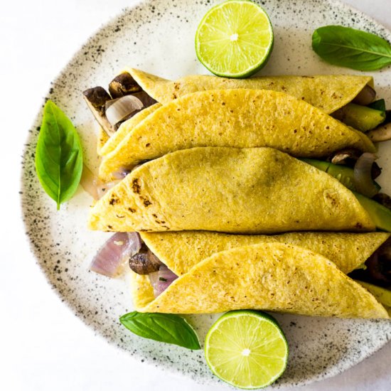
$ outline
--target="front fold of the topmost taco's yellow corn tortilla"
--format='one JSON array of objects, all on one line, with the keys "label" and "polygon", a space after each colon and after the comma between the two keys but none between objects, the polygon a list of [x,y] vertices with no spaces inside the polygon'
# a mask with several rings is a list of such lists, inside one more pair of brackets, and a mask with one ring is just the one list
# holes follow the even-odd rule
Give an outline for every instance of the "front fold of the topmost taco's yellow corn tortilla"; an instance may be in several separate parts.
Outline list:
[{"label": "front fold of the topmost taco's yellow corn tortilla", "polygon": [[112,181],[122,167],[195,146],[270,146],[312,158],[348,147],[375,151],[362,132],[282,92],[203,91],[169,102],[134,127],[105,155],[100,178]]}]

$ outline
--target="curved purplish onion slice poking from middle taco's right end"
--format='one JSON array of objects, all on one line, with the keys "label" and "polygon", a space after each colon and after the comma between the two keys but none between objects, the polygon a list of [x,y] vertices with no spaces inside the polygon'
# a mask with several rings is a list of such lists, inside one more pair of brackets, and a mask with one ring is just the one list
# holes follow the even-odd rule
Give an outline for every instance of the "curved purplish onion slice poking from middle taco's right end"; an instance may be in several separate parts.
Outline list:
[{"label": "curved purplish onion slice poking from middle taco's right end", "polygon": [[372,198],[379,191],[377,190],[372,178],[372,166],[375,161],[375,154],[365,152],[362,154],[354,166],[354,184],[358,193]]}]

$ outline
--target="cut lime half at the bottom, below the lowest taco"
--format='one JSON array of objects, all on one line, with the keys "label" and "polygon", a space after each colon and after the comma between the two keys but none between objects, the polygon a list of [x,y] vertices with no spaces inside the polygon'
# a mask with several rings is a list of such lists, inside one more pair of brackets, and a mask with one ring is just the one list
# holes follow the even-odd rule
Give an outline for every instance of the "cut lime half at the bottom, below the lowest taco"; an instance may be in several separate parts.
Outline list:
[{"label": "cut lime half at the bottom, below the lowest taco", "polygon": [[205,358],[212,372],[235,387],[266,387],[282,375],[288,343],[277,321],[260,311],[230,311],[205,338]]}]

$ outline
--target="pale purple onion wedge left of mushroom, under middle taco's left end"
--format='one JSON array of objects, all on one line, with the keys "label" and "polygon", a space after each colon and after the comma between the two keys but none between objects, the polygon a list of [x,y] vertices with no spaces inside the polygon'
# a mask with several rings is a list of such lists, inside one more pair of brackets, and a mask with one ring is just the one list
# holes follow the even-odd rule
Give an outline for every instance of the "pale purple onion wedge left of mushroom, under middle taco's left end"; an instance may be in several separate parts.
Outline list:
[{"label": "pale purple onion wedge left of mushroom, under middle taco's left end", "polygon": [[100,247],[90,270],[106,277],[117,277],[122,273],[129,257],[141,249],[141,237],[137,232],[117,232]]}]

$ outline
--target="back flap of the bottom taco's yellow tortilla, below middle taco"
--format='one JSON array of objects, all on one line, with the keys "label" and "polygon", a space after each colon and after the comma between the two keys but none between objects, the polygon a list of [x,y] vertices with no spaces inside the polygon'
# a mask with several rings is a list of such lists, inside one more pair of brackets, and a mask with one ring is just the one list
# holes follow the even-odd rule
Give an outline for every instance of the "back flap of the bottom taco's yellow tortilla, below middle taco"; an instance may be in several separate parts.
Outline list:
[{"label": "back flap of the bottom taco's yellow tortilla, below middle taco", "polygon": [[176,275],[216,252],[259,243],[296,245],[317,252],[348,274],[390,237],[387,232],[289,232],[282,235],[228,235],[221,232],[141,232],[149,249]]}]

